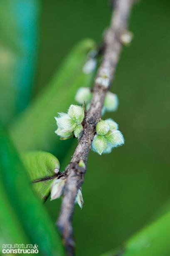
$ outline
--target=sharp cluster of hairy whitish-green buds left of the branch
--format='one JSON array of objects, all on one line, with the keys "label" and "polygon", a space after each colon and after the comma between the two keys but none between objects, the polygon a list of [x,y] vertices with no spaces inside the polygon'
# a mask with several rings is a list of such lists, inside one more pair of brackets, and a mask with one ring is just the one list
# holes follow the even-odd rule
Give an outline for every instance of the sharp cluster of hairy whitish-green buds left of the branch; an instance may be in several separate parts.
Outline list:
[{"label": "sharp cluster of hairy whitish-green buds left of the branch", "polygon": [[81,106],[71,105],[66,113],[58,113],[55,117],[58,129],[55,131],[62,139],[68,139],[73,134],[76,138],[83,131],[82,122],[84,119],[84,109]]}]

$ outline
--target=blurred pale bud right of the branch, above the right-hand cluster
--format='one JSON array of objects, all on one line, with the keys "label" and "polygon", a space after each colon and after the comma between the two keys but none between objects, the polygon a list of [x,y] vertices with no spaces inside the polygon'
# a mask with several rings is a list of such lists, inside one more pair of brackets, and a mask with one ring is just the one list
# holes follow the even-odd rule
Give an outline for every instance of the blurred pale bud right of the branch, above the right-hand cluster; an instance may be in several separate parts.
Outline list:
[{"label": "blurred pale bud right of the branch, above the right-hand cluster", "polygon": [[108,91],[106,93],[103,106],[108,112],[116,111],[116,109],[118,108],[118,96]]}]

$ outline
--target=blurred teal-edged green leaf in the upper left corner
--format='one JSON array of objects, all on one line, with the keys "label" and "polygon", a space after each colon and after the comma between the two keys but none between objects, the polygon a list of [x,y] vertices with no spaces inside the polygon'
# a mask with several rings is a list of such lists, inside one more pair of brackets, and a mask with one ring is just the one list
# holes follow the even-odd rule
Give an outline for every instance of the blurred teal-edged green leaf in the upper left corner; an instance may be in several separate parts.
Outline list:
[{"label": "blurred teal-edged green leaf in the upper left corner", "polygon": [[4,123],[11,122],[30,101],[39,7],[39,0],[0,1],[0,117]]}]

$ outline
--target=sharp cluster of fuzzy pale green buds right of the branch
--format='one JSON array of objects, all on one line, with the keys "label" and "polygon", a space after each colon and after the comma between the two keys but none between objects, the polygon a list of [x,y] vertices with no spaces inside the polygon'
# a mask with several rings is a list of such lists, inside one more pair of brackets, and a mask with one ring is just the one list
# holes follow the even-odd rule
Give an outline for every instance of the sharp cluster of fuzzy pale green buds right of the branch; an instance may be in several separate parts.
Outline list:
[{"label": "sharp cluster of fuzzy pale green buds right of the branch", "polygon": [[124,144],[123,134],[118,130],[118,124],[112,119],[101,120],[96,125],[96,135],[92,142],[92,150],[99,155],[110,153],[114,147]]}]

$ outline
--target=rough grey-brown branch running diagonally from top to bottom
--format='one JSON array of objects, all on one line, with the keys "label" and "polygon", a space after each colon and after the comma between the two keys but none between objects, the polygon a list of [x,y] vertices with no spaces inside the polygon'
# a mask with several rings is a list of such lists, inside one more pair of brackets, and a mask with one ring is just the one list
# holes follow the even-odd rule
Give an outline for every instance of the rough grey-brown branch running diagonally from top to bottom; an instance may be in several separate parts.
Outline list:
[{"label": "rough grey-brown branch running diagonally from top to bottom", "polygon": [[[71,220],[75,198],[78,189],[81,187],[84,180],[87,158],[89,151],[91,150],[91,143],[94,138],[96,124],[99,122],[101,117],[103,100],[106,91],[114,78],[116,65],[122,48],[120,36],[121,33],[126,31],[132,4],[133,0],[117,0],[115,3],[111,25],[104,36],[105,50],[103,53],[103,60],[94,82],[91,106],[86,114],[86,119],[84,120],[84,134],[76,147],[71,162],[65,169],[67,181],[57,226],[62,235],[68,255],[74,255],[74,240],[72,237],[73,229]],[[104,79],[108,86],[101,82],[102,79]],[[84,161],[84,167],[79,167],[80,160]]]}]

